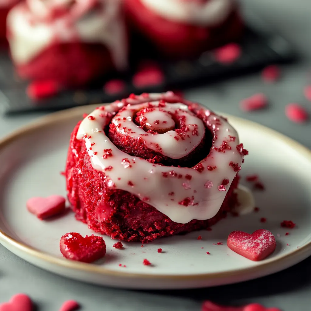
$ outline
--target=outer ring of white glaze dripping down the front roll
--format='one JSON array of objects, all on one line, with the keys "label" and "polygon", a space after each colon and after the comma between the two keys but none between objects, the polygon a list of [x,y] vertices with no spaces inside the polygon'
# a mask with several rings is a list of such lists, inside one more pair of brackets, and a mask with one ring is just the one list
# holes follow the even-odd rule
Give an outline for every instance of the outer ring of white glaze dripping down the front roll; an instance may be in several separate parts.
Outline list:
[{"label": "outer ring of white glaze dripping down the front roll", "polygon": [[[243,155],[237,148],[238,133],[224,118],[196,105],[194,114],[203,112],[208,128],[214,134],[210,153],[200,162],[201,170],[157,165],[129,156],[114,146],[103,131],[112,116],[127,105],[137,109],[139,106],[136,105],[142,103],[152,102],[156,106],[160,100],[170,102],[174,98],[176,96],[172,92],[143,94],[99,107],[81,122],[77,139],[85,140],[92,166],[105,174],[105,182],[109,187],[136,195],[175,222],[210,219],[219,211],[226,190],[243,160]],[[177,104],[179,107],[183,105]],[[167,107],[171,109],[172,106]],[[153,137],[157,135],[159,134]],[[222,148],[224,142],[225,150]],[[173,149],[174,146],[168,152],[174,152]]]}]

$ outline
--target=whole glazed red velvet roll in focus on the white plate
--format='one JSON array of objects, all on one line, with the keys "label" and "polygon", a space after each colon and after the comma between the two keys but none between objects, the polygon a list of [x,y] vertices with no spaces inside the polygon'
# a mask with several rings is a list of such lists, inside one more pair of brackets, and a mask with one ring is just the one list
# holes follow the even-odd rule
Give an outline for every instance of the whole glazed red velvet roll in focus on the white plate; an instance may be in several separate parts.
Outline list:
[{"label": "whole glazed red velvet roll in focus on the white plate", "polygon": [[72,132],[67,194],[76,218],[124,241],[206,229],[236,203],[244,155],[235,129],[174,95],[131,95]]}]

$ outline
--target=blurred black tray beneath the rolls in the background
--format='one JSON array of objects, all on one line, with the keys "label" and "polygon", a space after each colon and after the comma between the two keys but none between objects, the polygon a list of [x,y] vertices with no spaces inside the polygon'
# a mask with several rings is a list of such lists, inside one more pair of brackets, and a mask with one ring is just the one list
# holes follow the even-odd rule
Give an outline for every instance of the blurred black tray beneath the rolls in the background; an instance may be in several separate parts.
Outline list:
[{"label": "blurred black tray beneath the rolls in the background", "polygon": [[[123,75],[102,77],[83,90],[62,91],[48,99],[34,101],[26,95],[26,81],[20,81],[14,73],[12,62],[5,51],[0,53],[0,109],[4,114],[18,114],[33,111],[55,111],[86,104],[99,104],[124,98],[131,93],[163,92],[180,90],[194,85],[213,83],[259,70],[269,64],[288,63],[295,59],[291,45],[279,35],[262,36],[247,29],[239,42],[242,53],[230,64],[215,60],[212,52],[205,52],[199,58],[183,61],[168,61],[157,54],[132,51],[130,70]],[[148,55],[144,55],[146,53]],[[152,60],[164,72],[164,82],[157,86],[136,88],[132,76],[139,62]],[[126,90],[121,94],[105,94],[103,86],[107,80],[121,78],[126,82]]]}]

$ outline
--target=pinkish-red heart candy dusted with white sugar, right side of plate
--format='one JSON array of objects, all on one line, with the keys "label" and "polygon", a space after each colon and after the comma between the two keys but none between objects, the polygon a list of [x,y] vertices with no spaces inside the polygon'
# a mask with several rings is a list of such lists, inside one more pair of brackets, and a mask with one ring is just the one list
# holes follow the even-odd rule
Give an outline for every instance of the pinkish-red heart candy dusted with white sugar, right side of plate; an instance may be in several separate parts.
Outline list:
[{"label": "pinkish-red heart candy dusted with white sugar, right side of plate", "polygon": [[274,252],[276,240],[274,235],[266,229],[256,230],[252,234],[233,231],[228,236],[227,245],[235,253],[250,260],[259,261]]}]

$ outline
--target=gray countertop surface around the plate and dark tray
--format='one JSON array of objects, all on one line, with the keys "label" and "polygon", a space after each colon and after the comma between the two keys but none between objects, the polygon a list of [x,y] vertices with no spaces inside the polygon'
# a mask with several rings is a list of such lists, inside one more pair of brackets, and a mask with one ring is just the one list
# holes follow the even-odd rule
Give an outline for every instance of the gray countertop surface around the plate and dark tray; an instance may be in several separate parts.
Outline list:
[{"label": "gray countertop surface around the plate and dark tray", "polygon": [[[284,114],[285,105],[297,102],[311,113],[311,102],[303,88],[311,84],[311,2],[310,0],[243,0],[248,20],[262,28],[280,33],[301,56],[298,63],[282,67],[282,78],[265,84],[259,74],[188,90],[188,99],[213,110],[223,111],[271,127],[311,148],[311,122],[291,123]],[[258,21],[258,17],[260,19]],[[308,77],[309,76],[309,77]],[[309,81],[308,81],[309,79]],[[269,108],[244,113],[238,108],[241,99],[263,92]],[[43,114],[0,117],[3,137]],[[311,258],[283,272],[235,285],[197,290],[135,291],[119,290],[53,275],[30,265],[0,245],[0,303],[19,292],[31,296],[38,310],[57,311],[63,301],[75,299],[81,310],[200,310],[203,300],[222,304],[259,302],[283,311],[311,310]]]}]

